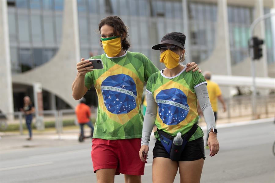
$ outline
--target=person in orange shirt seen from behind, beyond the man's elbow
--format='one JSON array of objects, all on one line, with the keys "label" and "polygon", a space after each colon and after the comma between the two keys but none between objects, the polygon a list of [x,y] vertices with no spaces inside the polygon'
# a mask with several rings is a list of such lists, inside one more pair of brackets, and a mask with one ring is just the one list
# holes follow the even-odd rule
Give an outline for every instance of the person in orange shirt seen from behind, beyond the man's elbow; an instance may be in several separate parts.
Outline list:
[{"label": "person in orange shirt seen from behind, beyond the man's elbow", "polygon": [[93,136],[94,127],[90,120],[91,110],[90,110],[90,107],[87,106],[85,103],[86,103],[86,99],[83,97],[80,100],[80,103],[75,108],[75,114],[80,126],[80,135],[84,136],[84,125],[86,124],[91,128],[91,136]]}]

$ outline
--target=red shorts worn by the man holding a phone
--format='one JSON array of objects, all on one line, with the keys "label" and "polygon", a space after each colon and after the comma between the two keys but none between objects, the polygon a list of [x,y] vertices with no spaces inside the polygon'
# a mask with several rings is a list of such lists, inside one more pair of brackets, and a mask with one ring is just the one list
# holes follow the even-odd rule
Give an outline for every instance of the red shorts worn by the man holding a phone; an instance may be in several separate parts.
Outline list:
[{"label": "red shorts worn by the man holding a phone", "polygon": [[92,161],[94,173],[99,169],[116,169],[116,175],[143,175],[144,166],[139,158],[141,138],[105,140],[93,138]]}]

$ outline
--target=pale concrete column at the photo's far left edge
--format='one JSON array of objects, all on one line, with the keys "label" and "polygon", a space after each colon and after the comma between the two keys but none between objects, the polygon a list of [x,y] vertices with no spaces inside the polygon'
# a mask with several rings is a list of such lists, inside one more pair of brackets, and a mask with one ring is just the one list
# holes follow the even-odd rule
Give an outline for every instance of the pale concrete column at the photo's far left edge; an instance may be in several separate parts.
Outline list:
[{"label": "pale concrete column at the photo's far left edge", "polygon": [[[13,113],[13,88],[11,77],[9,26],[7,1],[0,1],[0,110],[3,113]],[[13,120],[13,115],[7,116]]]}]

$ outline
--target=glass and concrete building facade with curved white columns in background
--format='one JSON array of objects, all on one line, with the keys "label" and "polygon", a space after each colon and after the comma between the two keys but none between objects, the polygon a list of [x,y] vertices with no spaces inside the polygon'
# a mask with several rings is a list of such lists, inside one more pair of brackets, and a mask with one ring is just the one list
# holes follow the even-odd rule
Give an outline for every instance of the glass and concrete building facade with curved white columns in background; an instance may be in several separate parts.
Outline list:
[{"label": "glass and concrete building facade with curved white columns in background", "polygon": [[[2,0],[0,3],[0,111],[12,113],[42,84],[44,109],[74,107],[71,84],[81,58],[103,53],[98,23],[119,16],[129,27],[129,51],[142,52],[159,68],[151,49],[168,32],[187,35],[187,62],[218,75],[251,76],[247,42],[253,20],[273,11],[275,0]],[[266,41],[258,77],[275,77],[275,21],[257,25]],[[222,88],[230,96],[229,88]],[[97,104],[96,92],[86,98]]]}]

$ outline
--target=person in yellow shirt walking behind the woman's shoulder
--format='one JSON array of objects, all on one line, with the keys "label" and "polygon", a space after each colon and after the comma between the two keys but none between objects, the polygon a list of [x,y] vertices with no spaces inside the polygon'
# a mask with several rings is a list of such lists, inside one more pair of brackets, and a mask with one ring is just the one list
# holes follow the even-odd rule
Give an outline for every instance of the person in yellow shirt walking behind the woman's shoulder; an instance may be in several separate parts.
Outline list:
[{"label": "person in yellow shirt walking behind the woman's shoulder", "polygon": [[[219,85],[213,81],[210,81],[211,72],[205,71],[204,78],[207,82],[208,95],[209,95],[210,103],[211,103],[211,106],[212,106],[212,109],[214,112],[215,121],[217,121],[218,100],[222,103],[223,112],[226,112],[226,104],[222,98],[222,91],[221,91]],[[201,116],[202,112],[200,111],[199,103],[198,103],[198,112],[200,113],[200,116]],[[207,140],[208,140],[208,133],[207,133]],[[206,142],[207,142],[207,140],[206,140]],[[209,149],[207,144],[206,144],[206,148]]]}]

